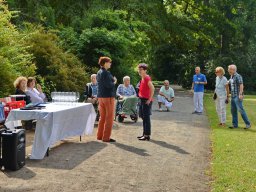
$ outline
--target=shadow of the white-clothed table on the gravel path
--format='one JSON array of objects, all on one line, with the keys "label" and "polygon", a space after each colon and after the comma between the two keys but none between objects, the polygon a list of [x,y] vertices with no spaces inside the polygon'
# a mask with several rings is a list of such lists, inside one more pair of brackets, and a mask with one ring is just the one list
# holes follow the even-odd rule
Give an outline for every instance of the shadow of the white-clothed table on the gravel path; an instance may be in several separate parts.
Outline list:
[{"label": "shadow of the white-clothed table on the gravel path", "polygon": [[106,146],[107,144],[97,141],[88,143],[62,143],[53,147],[50,150],[50,155],[42,160],[27,159],[27,166],[71,170]]}]

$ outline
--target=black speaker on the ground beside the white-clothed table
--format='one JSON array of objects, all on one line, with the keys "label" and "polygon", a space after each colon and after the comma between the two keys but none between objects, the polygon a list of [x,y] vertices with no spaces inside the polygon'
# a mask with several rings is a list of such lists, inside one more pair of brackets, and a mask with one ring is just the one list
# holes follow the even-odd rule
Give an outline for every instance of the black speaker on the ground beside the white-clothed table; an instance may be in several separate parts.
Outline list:
[{"label": "black speaker on the ground beside the white-clothed table", "polygon": [[16,171],[25,165],[26,136],[24,129],[6,130],[1,134],[2,166]]}]

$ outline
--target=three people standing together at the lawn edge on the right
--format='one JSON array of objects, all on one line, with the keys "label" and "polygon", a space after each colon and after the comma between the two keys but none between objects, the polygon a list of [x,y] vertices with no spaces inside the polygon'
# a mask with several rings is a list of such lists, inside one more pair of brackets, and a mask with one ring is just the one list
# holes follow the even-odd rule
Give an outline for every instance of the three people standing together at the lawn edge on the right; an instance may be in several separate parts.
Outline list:
[{"label": "three people standing together at the lawn edge on the right", "polygon": [[[219,118],[219,125],[226,124],[226,105],[229,103],[229,95],[231,93],[231,115],[232,125],[229,128],[238,128],[238,111],[245,123],[244,129],[249,129],[251,123],[243,107],[244,98],[244,84],[243,78],[237,73],[236,65],[228,66],[230,79],[227,80],[225,70],[222,67],[215,69],[216,82],[214,91],[214,100],[216,104],[216,111]],[[200,72],[200,67],[195,68],[195,75],[193,76],[192,92],[194,93],[194,112],[193,114],[202,114],[203,112],[203,96],[204,85],[207,84],[207,79],[204,74]]]}]

